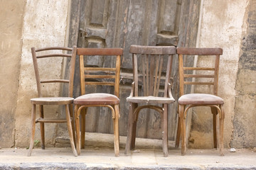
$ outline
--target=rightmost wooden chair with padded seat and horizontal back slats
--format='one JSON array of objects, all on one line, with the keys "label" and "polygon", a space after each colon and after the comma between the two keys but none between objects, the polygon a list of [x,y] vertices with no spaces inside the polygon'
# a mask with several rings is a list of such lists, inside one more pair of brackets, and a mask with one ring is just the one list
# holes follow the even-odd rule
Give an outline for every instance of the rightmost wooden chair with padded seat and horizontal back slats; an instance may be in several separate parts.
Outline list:
[{"label": "rightmost wooden chair with padded seat and horizontal back slats", "polygon": [[[178,98],[178,130],[176,136],[176,147],[178,147],[181,135],[181,154],[186,154],[186,115],[189,108],[196,106],[208,106],[213,113],[213,142],[217,148],[216,115],[219,115],[219,139],[220,155],[223,155],[223,123],[224,123],[224,101],[218,97],[218,73],[221,48],[187,48],[178,47],[178,70],[180,81],[180,98]],[[200,55],[201,57],[215,57],[214,67],[186,67],[183,59],[187,55]],[[209,60],[209,62],[212,60]],[[196,72],[196,74],[193,74]],[[193,81],[196,79],[196,81]],[[213,94],[184,94],[184,85],[206,85],[213,86]]]}]

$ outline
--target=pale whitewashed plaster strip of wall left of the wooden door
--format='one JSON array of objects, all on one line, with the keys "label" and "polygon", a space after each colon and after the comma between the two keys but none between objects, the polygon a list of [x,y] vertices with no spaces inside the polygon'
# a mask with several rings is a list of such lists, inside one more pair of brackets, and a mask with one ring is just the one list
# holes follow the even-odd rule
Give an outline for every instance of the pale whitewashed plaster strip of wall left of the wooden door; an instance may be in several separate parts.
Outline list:
[{"label": "pale whitewashed plaster strip of wall left of the wooden door", "polygon": [[[33,70],[31,47],[65,46],[68,28],[69,1],[33,1],[27,0],[23,17],[21,69],[17,94],[17,108],[15,113],[15,142],[18,147],[27,147],[31,129],[30,98],[37,96],[36,77]],[[43,60],[43,67],[55,69],[55,77],[62,76],[63,60],[55,62]],[[52,69],[43,74],[50,74]],[[45,86],[50,96],[60,93],[60,86]],[[53,92],[56,91],[56,92]],[[38,110],[38,108],[37,108]],[[58,117],[56,107],[48,107],[50,117]],[[46,115],[47,116],[47,115]],[[55,144],[55,132],[58,126],[55,123],[46,125],[46,146]],[[40,139],[39,124],[36,125],[36,139]]]}]

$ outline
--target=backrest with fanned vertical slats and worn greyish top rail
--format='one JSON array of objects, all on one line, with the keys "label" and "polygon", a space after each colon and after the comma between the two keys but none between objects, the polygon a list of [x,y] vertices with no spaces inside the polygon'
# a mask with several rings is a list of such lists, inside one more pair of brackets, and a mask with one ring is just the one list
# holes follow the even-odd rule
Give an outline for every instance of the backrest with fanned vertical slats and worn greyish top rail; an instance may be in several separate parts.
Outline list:
[{"label": "backrest with fanned vertical slats and worn greyish top rail", "polygon": [[[164,97],[167,97],[176,47],[131,45],[129,52],[132,53],[134,96],[159,96],[159,89],[164,86]],[[143,86],[143,94],[139,94],[139,86]]]}]

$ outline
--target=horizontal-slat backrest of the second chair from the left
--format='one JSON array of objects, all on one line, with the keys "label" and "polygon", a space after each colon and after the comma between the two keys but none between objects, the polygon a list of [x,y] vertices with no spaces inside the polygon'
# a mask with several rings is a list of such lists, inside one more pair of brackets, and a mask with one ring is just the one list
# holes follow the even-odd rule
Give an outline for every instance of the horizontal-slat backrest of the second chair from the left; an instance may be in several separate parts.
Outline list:
[{"label": "horizontal-slat backrest of the second chair from the left", "polygon": [[[81,94],[85,94],[85,85],[94,86],[114,86],[114,95],[119,97],[119,77],[122,48],[78,48],[77,55],[80,61],[80,84]],[[97,60],[95,57],[102,57],[102,60],[111,61],[106,67],[101,64],[90,64],[84,60]],[[110,60],[110,57],[115,57]],[[113,67],[112,67],[112,66]]]}]

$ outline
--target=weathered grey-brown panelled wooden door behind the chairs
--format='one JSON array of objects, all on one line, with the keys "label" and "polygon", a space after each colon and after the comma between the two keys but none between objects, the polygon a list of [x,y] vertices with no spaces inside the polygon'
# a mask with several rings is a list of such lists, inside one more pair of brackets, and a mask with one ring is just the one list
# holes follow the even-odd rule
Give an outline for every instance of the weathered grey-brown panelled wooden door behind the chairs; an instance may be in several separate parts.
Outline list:
[{"label": "weathered grey-brown panelled wooden door behind the chairs", "polygon": [[[70,14],[69,46],[122,47],[120,81],[120,135],[127,135],[128,103],[132,82],[132,56],[129,46],[175,45],[194,47],[198,28],[198,0],[73,0]],[[90,64],[111,64],[91,60]],[[177,64],[174,62],[173,95],[178,96]],[[75,75],[75,97],[80,95],[78,67]],[[111,91],[111,89],[105,89]],[[147,112],[147,111],[146,111]],[[137,137],[161,139],[158,113],[141,113]],[[169,140],[175,140],[176,104],[169,108]],[[112,133],[112,117],[106,108],[92,108],[86,117],[87,132]]]}]

